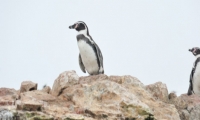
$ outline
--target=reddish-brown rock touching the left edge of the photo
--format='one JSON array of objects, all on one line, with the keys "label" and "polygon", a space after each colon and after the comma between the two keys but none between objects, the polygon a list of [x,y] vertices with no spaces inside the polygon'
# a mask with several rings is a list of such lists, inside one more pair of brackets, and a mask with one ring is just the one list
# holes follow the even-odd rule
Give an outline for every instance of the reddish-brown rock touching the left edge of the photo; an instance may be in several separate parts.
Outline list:
[{"label": "reddish-brown rock touching the left edge of the photo", "polygon": [[18,93],[15,89],[0,88],[0,106],[14,105],[18,99]]}]

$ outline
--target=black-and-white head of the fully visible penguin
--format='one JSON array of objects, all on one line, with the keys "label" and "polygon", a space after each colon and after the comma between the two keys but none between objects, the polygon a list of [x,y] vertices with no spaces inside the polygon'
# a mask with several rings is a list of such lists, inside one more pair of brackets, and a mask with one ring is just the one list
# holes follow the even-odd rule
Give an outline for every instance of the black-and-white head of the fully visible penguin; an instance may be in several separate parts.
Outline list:
[{"label": "black-and-white head of the fully visible penguin", "polygon": [[78,32],[79,31],[88,31],[88,27],[87,27],[87,25],[83,22],[83,21],[78,21],[78,22],[76,22],[76,23],[74,23],[73,25],[70,25],[69,26],[69,29],[75,29],[75,30],[77,30]]}]

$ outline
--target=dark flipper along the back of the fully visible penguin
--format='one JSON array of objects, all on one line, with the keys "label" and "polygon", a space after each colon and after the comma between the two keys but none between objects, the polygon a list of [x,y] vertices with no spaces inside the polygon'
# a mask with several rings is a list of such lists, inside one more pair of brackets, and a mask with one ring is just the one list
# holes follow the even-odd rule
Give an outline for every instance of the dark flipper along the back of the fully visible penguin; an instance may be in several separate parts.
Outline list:
[{"label": "dark flipper along the back of the fully visible penguin", "polygon": [[96,52],[97,52],[98,61],[99,61],[99,64],[100,64],[99,73],[104,74],[103,55],[101,53],[101,50],[100,50],[99,46],[96,43],[94,43],[94,46],[95,46],[95,49],[96,49]]}]

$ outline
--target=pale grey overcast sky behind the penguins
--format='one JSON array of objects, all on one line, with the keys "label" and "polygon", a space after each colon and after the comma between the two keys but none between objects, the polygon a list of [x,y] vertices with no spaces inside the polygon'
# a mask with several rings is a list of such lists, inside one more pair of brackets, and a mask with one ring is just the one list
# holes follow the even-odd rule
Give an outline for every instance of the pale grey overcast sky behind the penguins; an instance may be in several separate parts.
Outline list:
[{"label": "pale grey overcast sky behind the penguins", "polygon": [[24,80],[53,85],[75,70],[78,46],[69,25],[84,21],[99,45],[107,75],[132,75],[145,85],[162,81],[187,92],[199,45],[200,1],[0,0],[0,87]]}]

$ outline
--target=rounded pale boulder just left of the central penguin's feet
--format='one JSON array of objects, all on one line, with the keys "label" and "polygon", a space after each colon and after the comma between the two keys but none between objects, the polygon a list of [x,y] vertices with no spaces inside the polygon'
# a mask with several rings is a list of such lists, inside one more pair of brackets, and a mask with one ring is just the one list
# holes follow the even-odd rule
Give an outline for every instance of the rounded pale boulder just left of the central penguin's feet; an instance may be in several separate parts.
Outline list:
[{"label": "rounded pale boulder just left of the central penguin's feet", "polygon": [[67,87],[73,86],[78,83],[79,77],[75,71],[65,71],[61,73],[54,81],[51,94],[58,96]]}]

